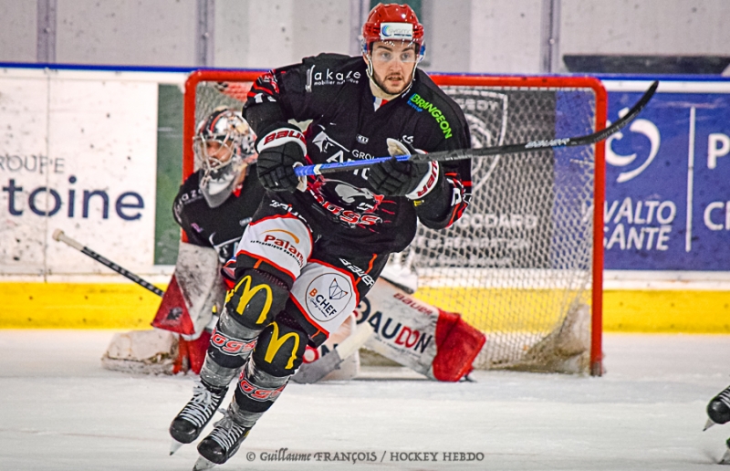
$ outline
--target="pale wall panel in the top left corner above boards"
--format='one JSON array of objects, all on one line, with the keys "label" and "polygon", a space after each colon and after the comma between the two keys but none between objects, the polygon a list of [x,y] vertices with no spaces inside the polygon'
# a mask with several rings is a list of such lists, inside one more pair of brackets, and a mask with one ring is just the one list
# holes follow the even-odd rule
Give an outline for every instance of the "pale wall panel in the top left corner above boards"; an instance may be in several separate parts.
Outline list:
[{"label": "pale wall panel in the top left corner above boards", "polygon": [[0,0],[0,62],[36,62],[37,3]]}]

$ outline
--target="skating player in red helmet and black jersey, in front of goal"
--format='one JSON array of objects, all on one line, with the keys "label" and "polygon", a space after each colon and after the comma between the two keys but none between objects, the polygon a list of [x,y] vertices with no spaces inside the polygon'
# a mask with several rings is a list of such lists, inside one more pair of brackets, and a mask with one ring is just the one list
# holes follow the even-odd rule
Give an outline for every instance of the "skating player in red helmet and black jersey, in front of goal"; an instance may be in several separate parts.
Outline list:
[{"label": "skating player in red helmet and black jersey, in front of goal", "polygon": [[[258,78],[249,93],[245,118],[259,136],[267,192],[237,247],[235,288],[203,363],[210,400],[196,395],[171,425],[174,438],[192,442],[240,372],[224,419],[198,445],[196,469],[235,454],[306,345],[339,328],[388,255],[411,242],[417,219],[447,227],[468,204],[468,161],[393,159],[337,179],[297,178],[294,167],[306,163],[469,146],[462,111],[417,69],[423,28],[412,9],[377,5],[362,36],[362,58],[305,58]],[[312,122],[303,134],[290,119]],[[183,420],[185,411],[195,424]]]}]

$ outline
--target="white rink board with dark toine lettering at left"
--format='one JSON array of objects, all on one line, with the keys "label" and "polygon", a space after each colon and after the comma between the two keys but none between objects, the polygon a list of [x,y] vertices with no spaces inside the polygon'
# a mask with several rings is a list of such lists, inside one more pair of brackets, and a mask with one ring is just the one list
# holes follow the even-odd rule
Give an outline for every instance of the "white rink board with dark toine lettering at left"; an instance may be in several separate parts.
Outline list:
[{"label": "white rink board with dark toine lettering at left", "polygon": [[54,241],[57,228],[155,272],[158,84],[184,78],[0,69],[0,276],[109,273]]}]

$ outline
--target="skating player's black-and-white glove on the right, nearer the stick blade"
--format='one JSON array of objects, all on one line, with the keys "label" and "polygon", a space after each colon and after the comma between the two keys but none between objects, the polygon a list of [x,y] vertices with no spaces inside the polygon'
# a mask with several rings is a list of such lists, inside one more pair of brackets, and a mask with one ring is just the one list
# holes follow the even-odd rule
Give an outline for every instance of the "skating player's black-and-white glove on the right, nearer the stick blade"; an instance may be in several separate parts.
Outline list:
[{"label": "skating player's black-and-white glove on the right, nearer the stick blade", "polygon": [[[401,141],[388,138],[388,152],[391,156],[424,153]],[[398,162],[376,163],[370,167],[368,182],[372,189],[387,196],[405,196],[420,200],[436,186],[439,177],[438,162]]]}]

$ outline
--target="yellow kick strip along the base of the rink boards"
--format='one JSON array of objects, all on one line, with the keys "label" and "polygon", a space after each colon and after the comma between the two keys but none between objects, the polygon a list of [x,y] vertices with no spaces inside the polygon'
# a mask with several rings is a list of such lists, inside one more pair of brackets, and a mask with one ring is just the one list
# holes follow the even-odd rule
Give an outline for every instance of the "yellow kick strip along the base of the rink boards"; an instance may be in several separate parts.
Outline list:
[{"label": "yellow kick strip along the base of the rink boards", "polygon": [[[458,306],[444,303],[443,293],[438,291],[424,288],[416,297],[459,312]],[[458,299],[453,295],[449,298]],[[0,329],[147,329],[160,300],[132,284],[5,282],[0,283]],[[462,314],[479,326],[474,314]],[[603,330],[730,334],[730,293],[607,290],[603,293]]]}]

